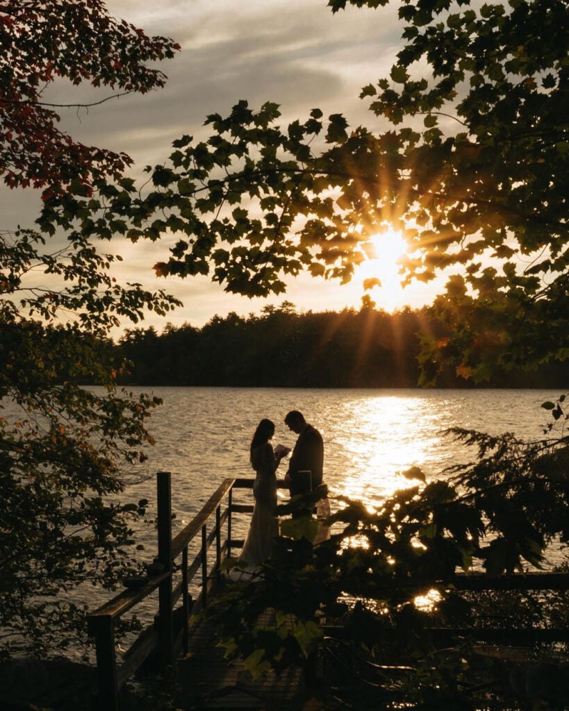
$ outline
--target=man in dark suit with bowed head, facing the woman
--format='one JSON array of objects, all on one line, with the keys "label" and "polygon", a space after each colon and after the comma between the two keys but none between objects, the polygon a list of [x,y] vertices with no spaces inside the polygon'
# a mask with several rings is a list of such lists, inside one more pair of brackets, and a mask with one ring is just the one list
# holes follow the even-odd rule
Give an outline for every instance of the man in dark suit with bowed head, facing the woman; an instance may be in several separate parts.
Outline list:
[{"label": "man in dark suit with bowed head, facing the woman", "polygon": [[285,476],[290,496],[307,493],[322,483],[324,466],[324,442],[316,427],[304,419],[302,412],[291,410],[285,417],[285,424],[298,434]]}]

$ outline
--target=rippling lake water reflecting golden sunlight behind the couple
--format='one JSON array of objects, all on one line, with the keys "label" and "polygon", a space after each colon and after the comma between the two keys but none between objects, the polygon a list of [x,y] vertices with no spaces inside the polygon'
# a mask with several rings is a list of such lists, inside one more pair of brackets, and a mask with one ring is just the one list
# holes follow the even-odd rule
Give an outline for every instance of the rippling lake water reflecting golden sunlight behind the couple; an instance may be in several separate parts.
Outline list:
[{"label": "rippling lake water reflecting golden sunlight behind the couple", "polygon": [[[553,390],[240,387],[156,387],[152,392],[164,405],[149,420],[156,446],[146,466],[149,474],[171,471],[177,526],[191,519],[225,477],[254,476],[249,444],[262,417],[275,422],[273,444],[292,447],[296,435],[283,419],[289,410],[303,412],[324,438],[324,479],[331,492],[373,502],[408,486],[400,472],[410,466],[420,466],[430,478],[450,464],[474,459],[474,450],[445,437],[444,429],[538,439],[548,422],[541,403],[560,395]],[[154,479],[137,485],[137,492],[154,501]]]}]

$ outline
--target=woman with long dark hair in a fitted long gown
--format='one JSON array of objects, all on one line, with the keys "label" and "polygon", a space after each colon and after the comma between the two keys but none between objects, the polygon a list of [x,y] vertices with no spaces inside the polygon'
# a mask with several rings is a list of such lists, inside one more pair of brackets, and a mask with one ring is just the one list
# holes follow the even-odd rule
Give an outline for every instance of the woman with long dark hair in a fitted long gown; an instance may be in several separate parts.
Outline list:
[{"label": "woman with long dark hair in a fitted long gown", "polygon": [[260,565],[270,557],[272,539],[279,535],[277,518],[277,476],[275,470],[289,449],[277,447],[277,454],[272,449],[270,440],[275,434],[275,424],[270,419],[262,419],[257,425],[251,441],[250,461],[257,472],[253,483],[255,506],[249,527],[249,533],[240,562],[248,565]]}]

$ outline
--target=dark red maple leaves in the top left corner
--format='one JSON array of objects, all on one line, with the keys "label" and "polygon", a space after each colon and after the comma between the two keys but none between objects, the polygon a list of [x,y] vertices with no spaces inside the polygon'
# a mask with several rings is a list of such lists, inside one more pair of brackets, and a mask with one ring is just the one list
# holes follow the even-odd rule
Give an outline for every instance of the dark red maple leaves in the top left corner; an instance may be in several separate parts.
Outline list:
[{"label": "dark red maple leaves in the top left corner", "polygon": [[166,76],[147,63],[174,57],[179,45],[117,21],[102,0],[2,2],[0,44],[0,174],[6,185],[42,188],[48,198],[74,184],[88,188],[93,178],[119,178],[132,164],[129,156],[61,132],[43,92],[58,77],[73,85],[149,92],[164,86]]}]

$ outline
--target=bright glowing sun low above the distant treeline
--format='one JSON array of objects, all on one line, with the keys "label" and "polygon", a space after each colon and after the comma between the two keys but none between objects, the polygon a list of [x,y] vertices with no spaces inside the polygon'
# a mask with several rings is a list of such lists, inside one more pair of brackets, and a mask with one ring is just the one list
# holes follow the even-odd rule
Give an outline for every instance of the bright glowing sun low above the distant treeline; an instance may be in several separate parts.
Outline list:
[{"label": "bright glowing sun low above the distant treeline", "polygon": [[381,232],[366,242],[365,259],[356,267],[354,282],[363,284],[376,306],[394,311],[405,306],[408,294],[401,286],[400,260],[407,254],[403,235],[395,230]]}]

